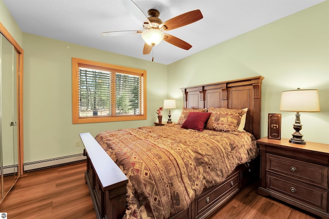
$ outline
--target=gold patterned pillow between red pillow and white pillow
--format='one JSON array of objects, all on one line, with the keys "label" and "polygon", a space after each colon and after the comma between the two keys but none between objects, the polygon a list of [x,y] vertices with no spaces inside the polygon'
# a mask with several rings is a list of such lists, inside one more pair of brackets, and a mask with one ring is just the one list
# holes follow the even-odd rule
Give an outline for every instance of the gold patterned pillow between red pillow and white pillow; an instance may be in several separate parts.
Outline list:
[{"label": "gold patterned pillow between red pillow and white pillow", "polygon": [[207,122],[207,129],[218,131],[236,131],[241,123],[245,110],[223,109],[210,107],[208,112],[211,112]]}]

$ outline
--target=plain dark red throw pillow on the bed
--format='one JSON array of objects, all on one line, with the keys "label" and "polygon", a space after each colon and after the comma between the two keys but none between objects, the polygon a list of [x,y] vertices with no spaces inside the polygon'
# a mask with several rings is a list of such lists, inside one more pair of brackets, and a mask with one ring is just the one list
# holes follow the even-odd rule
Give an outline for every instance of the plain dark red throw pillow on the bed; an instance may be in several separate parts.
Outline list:
[{"label": "plain dark red throw pillow on the bed", "polygon": [[210,112],[189,112],[181,128],[203,131],[210,114]]}]

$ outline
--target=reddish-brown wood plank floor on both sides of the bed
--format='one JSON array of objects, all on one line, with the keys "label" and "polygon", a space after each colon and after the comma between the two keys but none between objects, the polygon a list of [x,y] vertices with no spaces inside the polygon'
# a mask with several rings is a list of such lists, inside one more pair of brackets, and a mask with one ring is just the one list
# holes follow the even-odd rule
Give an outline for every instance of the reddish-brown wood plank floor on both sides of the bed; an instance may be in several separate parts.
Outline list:
[{"label": "reddish-brown wood plank floor on both sides of the bed", "polygon": [[[0,204],[8,218],[96,218],[84,181],[85,162],[32,171],[20,177]],[[271,198],[257,194],[252,184],[218,210],[212,217],[241,218],[316,218]]]}]

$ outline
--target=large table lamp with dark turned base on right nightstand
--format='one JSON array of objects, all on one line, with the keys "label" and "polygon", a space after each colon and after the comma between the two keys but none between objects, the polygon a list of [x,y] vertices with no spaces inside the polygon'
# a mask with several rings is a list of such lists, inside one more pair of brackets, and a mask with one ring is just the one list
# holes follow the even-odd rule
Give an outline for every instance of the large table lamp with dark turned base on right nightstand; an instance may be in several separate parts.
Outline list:
[{"label": "large table lamp with dark turned base on right nightstand", "polygon": [[299,112],[320,112],[318,90],[288,90],[281,94],[280,111],[296,112],[294,124],[295,133],[289,142],[306,145],[303,135],[299,132],[302,129]]}]

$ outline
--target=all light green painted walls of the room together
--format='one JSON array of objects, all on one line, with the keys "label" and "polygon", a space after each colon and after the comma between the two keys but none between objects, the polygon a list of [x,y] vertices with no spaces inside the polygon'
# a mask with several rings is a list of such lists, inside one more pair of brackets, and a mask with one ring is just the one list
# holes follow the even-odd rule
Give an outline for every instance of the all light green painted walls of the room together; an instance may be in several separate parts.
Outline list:
[{"label": "all light green painted walls of the room together", "polygon": [[[180,88],[262,75],[262,136],[267,114],[282,114],[282,137],[293,133],[294,113],[280,112],[284,90],[319,89],[321,112],[301,113],[305,141],[329,144],[329,2],[326,1],[229,41],[162,65],[50,38],[22,33],[0,0],[0,22],[24,49],[24,162],[82,153],[79,133],[151,126],[163,99]],[[202,40],[202,39],[200,39]],[[145,121],[72,125],[71,57],[147,70]],[[164,110],[166,115],[168,110]],[[166,116],[165,116],[166,119]]]}]

